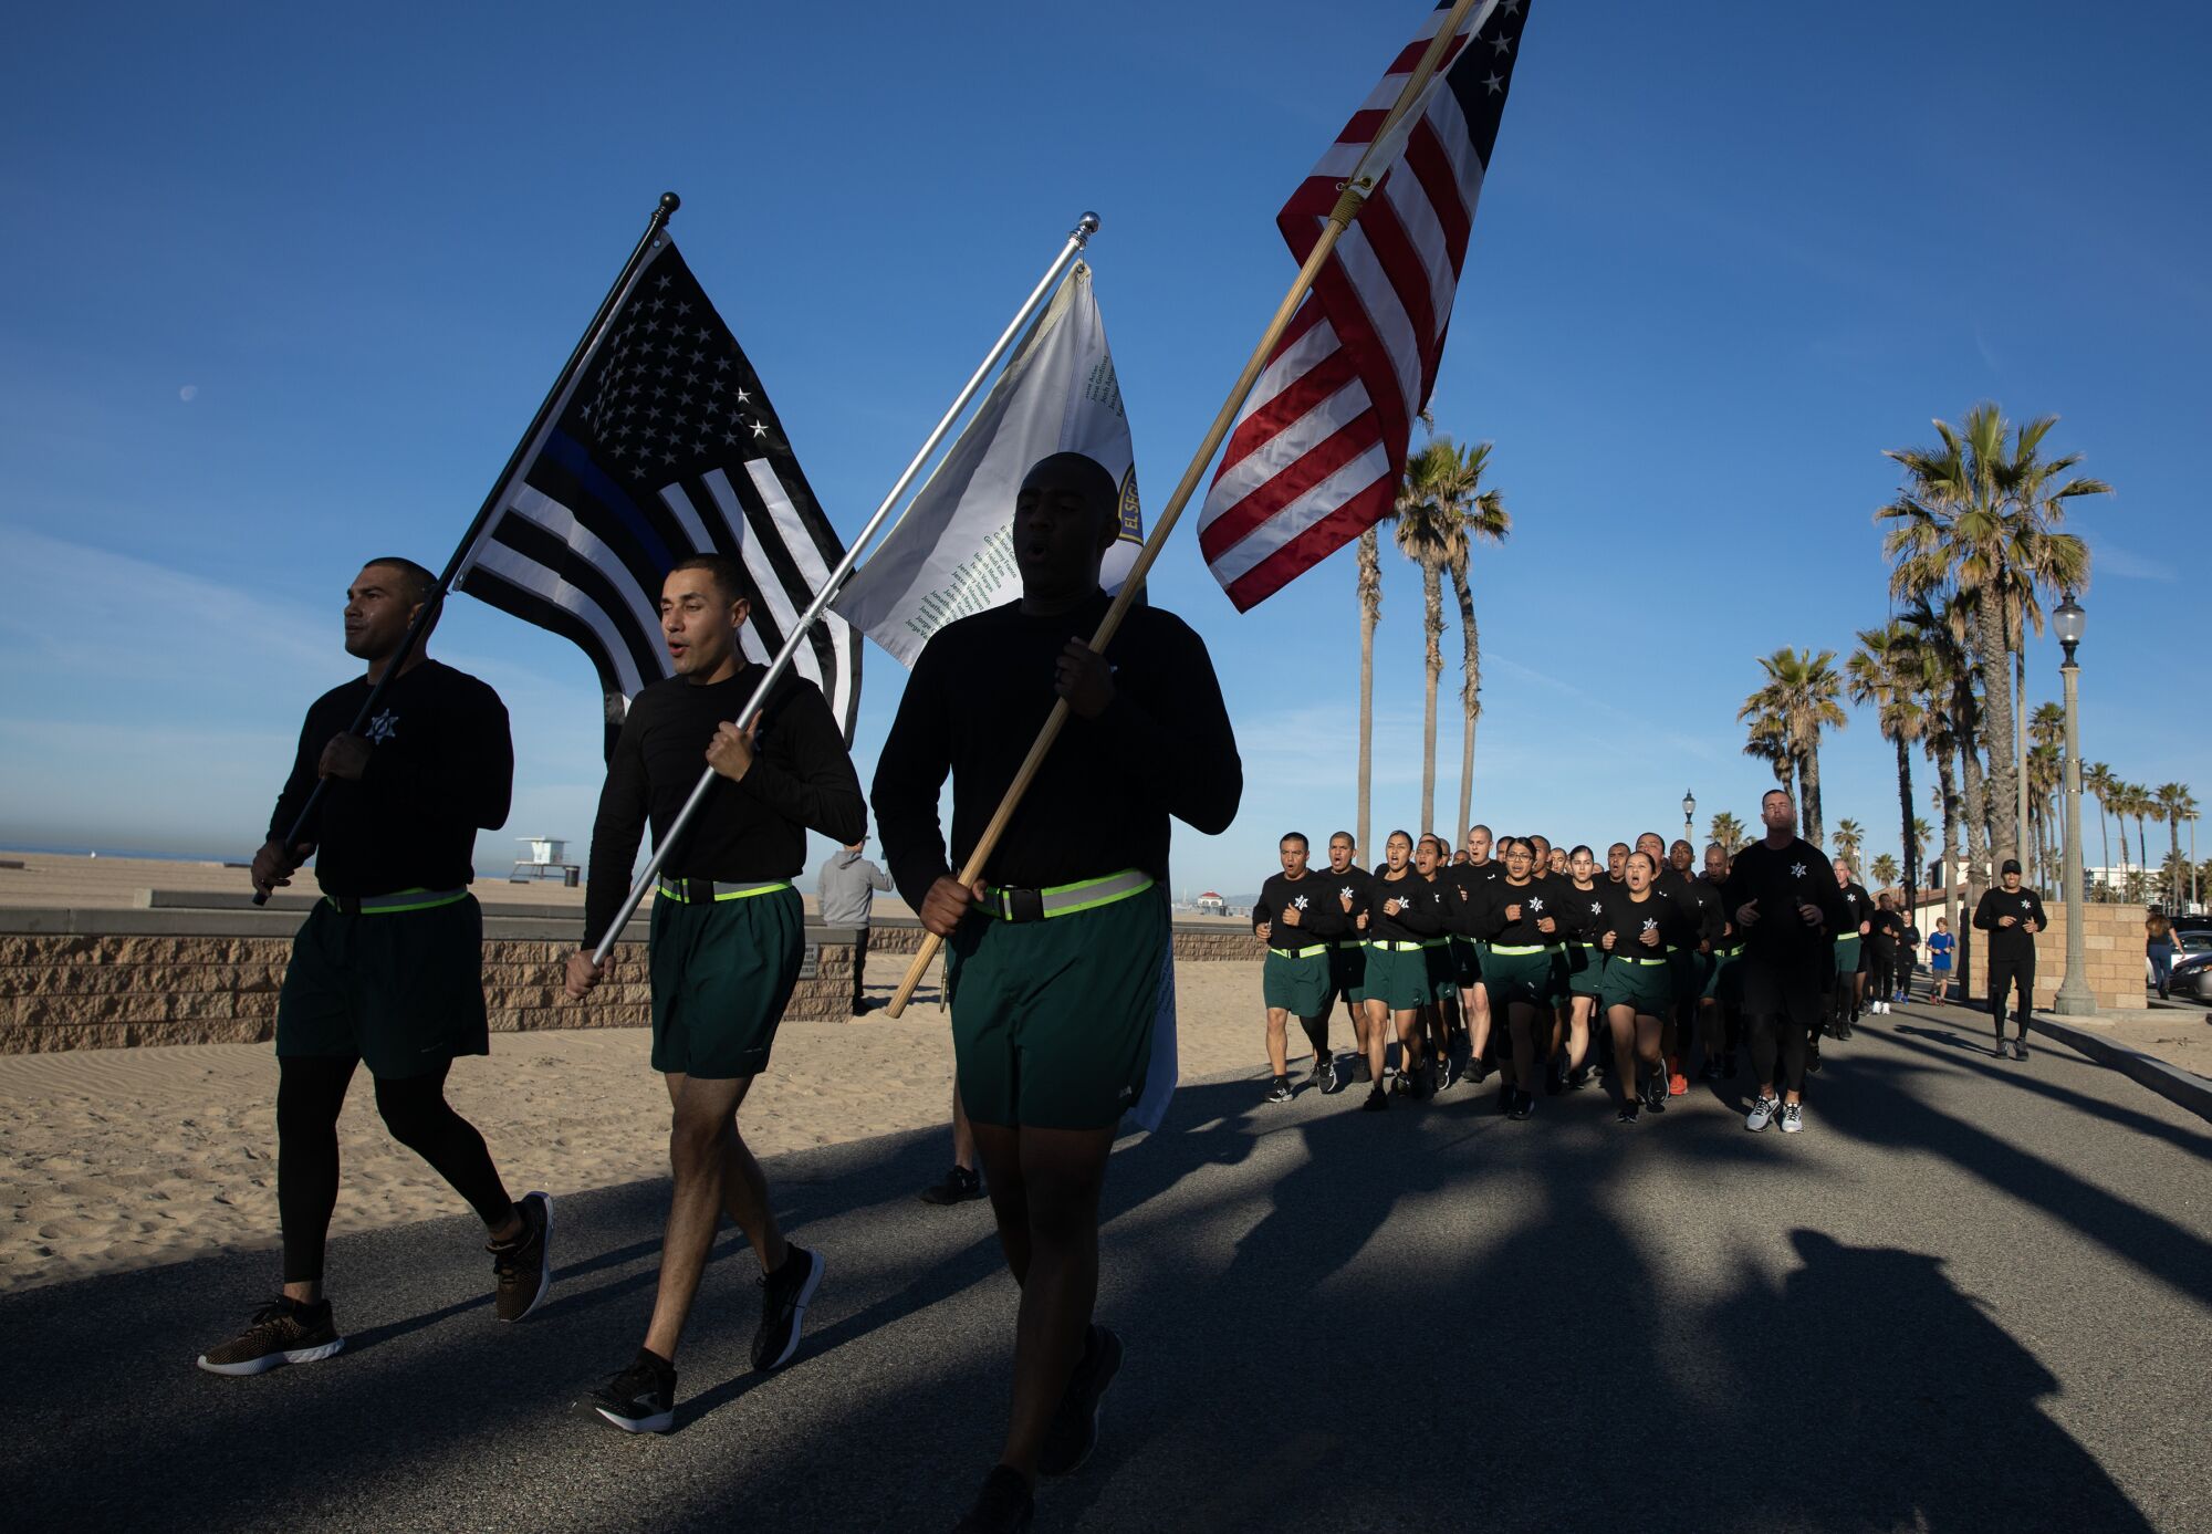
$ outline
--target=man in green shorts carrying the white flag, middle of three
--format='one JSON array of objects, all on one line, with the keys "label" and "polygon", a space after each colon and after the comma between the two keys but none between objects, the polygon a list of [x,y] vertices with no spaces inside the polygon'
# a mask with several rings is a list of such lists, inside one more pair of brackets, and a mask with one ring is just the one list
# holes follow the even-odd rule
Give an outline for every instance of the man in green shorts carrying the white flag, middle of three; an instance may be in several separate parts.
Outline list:
[{"label": "man in green shorts carrying the white flag, middle of three", "polygon": [[[653,900],[653,1070],[668,1083],[675,1187],[644,1346],[591,1395],[591,1408],[624,1432],[675,1426],[677,1342],[723,1213],[761,1264],[754,1368],[790,1362],[823,1275],[821,1253],[783,1238],[737,1110],[768,1070],[799,984],[805,913],[792,878],[805,866],[807,829],[841,847],[858,842],[867,807],[814,683],[785,672],[761,710],[734,723],[763,672],[739,650],[750,610],[743,570],[721,555],[684,559],[661,581],[661,641],[675,676],[630,703],[591,827],[586,944],[615,922],[646,822],[661,844],[701,767],[717,774],[661,864]],[[568,955],[571,997],[604,977],[588,948]]]}]

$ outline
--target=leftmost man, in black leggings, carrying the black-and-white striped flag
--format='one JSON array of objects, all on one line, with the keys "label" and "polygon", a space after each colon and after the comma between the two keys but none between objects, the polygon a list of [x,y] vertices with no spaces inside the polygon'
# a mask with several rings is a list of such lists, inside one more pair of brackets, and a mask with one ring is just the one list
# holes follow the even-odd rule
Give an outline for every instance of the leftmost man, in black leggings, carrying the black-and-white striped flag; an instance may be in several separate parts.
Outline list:
[{"label": "leftmost man, in black leggings, carrying the black-and-white striped flag", "polygon": [[[276,1211],[283,1295],[199,1366],[259,1375],[345,1346],[323,1297],[323,1240],[338,1202],[338,1110],[367,1061],[392,1138],[469,1200],[491,1236],[495,1313],[520,1322],[551,1282],[553,1200],[507,1196],[484,1136],[445,1101],[456,1054],[487,1054],[484,920],[469,884],[476,831],[507,824],[513,747],[500,696],[422,652],[407,654],[365,734],[347,734],[398,656],[436,577],[372,559],[345,592],[345,650],[367,674],[325,692],[299,732],[292,776],[254,855],[268,893],[316,855],[323,900],[292,939],[276,997]],[[434,621],[436,623],[436,621]],[[299,844],[285,836],[323,796]]]}]

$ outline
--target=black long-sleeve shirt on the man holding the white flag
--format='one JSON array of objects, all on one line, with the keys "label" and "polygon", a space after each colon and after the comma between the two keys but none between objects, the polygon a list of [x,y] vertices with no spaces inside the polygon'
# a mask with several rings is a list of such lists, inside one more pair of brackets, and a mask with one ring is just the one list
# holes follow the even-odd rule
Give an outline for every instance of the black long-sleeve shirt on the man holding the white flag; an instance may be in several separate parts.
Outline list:
[{"label": "black long-sleeve shirt on the man holding the white flag", "polygon": [[[591,884],[584,891],[586,942],[615,920],[630,889],[637,842],[653,822],[659,847],[699,774],[714,732],[734,721],[761,668],[745,665],[728,681],[692,683],[668,676],[630,701],[615,758],[599,789],[599,818],[591,827]],[[794,878],[807,862],[807,827],[832,842],[858,842],[867,831],[860,778],[845,754],[821,687],[785,672],[761,707],[752,767],[737,782],[714,778],[699,811],[684,827],[661,871],[672,880],[750,884]]]}]

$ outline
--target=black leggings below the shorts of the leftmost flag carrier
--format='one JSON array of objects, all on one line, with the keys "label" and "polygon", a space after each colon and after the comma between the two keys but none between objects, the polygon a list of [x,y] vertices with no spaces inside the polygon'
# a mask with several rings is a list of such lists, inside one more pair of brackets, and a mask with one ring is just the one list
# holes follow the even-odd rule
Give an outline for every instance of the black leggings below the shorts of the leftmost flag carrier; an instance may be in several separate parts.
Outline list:
[{"label": "black leggings below the shorts of the leftmost flag carrier", "polygon": [[[294,1054],[276,1061],[276,1213],[283,1220],[283,1282],[323,1278],[330,1211],[338,1207],[338,1110],[354,1079],[354,1059]],[[453,1185],[487,1227],[507,1225],[507,1198],[484,1136],[445,1101],[445,1072],[376,1081],[376,1112],[392,1138]]]}]

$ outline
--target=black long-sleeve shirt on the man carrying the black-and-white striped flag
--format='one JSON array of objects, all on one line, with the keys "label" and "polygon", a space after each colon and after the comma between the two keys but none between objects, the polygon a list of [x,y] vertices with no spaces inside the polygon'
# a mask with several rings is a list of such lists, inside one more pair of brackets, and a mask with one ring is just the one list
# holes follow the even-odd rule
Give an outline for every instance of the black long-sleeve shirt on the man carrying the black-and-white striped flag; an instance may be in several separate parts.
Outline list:
[{"label": "black long-sleeve shirt on the man carrying the black-and-white striped flag", "polygon": [[[292,776],[276,796],[270,840],[288,836],[314,791],[332,736],[369,701],[369,679],[332,687],[307,707]],[[507,705],[489,685],[438,661],[403,672],[363,736],[369,765],[358,782],[323,785],[301,840],[316,844],[314,882],[325,895],[458,889],[476,880],[476,833],[507,824],[515,747]]]}]

